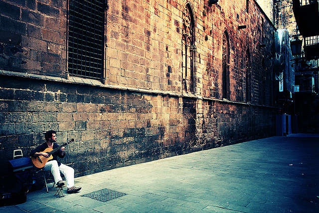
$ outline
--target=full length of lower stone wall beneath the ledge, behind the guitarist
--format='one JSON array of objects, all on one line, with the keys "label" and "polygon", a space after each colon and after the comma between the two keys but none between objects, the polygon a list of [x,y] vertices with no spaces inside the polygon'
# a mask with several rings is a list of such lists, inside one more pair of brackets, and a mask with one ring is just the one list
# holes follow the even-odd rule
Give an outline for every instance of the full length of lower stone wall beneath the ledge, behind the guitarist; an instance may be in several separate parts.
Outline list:
[{"label": "full length of lower stone wall beneath the ledge, behind the guitarist", "polygon": [[[57,131],[77,176],[262,138],[273,108],[2,75],[0,162]],[[24,85],[21,87],[21,85]],[[1,170],[2,175],[5,169]]]}]

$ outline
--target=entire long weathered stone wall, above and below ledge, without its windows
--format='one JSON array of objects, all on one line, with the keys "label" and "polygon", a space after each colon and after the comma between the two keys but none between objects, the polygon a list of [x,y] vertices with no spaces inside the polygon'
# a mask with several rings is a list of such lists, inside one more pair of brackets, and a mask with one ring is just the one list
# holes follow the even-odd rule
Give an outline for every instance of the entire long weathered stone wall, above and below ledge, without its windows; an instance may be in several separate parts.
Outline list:
[{"label": "entire long weathered stone wall, above and below ledge, without its windows", "polygon": [[[68,2],[0,1],[0,176],[14,149],[26,156],[50,129],[60,143],[75,139],[62,162],[77,177],[274,135],[275,28],[255,1],[246,11],[246,0],[109,0],[103,81],[67,72]],[[194,14],[193,92],[182,86],[186,3]]]}]

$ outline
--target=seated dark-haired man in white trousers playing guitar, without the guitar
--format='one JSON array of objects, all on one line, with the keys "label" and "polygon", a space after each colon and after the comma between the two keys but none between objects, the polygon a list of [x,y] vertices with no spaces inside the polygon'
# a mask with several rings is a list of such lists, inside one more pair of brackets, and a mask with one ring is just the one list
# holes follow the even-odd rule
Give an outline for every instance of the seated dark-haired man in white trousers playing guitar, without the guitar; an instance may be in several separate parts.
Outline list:
[{"label": "seated dark-haired man in white trousers playing guitar, without the guitar", "polygon": [[[50,155],[43,151],[47,148],[51,148],[53,150],[59,148],[59,146],[56,144],[56,132],[54,130],[47,131],[44,137],[46,142],[32,150],[29,154],[31,157],[37,158],[38,156],[43,156],[45,158],[49,158]],[[65,147],[61,147],[61,149],[58,149],[58,151],[52,153],[53,158],[45,163],[43,170],[51,171],[54,182],[58,187],[64,186],[60,175],[61,172],[66,180],[66,186],[68,188],[67,193],[76,193],[81,190],[81,187],[74,186],[74,169],[57,161],[57,157],[64,158],[64,149]]]}]

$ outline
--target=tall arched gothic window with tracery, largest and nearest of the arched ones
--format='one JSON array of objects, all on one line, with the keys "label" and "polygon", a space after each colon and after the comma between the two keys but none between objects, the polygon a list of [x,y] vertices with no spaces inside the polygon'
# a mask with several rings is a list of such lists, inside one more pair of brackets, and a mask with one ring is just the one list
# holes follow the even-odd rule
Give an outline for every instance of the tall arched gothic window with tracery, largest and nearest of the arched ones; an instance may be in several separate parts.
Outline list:
[{"label": "tall arched gothic window with tracery, largest and nearest of the arched ones", "polygon": [[182,18],[182,86],[184,91],[195,92],[195,23],[189,3],[183,9]]}]

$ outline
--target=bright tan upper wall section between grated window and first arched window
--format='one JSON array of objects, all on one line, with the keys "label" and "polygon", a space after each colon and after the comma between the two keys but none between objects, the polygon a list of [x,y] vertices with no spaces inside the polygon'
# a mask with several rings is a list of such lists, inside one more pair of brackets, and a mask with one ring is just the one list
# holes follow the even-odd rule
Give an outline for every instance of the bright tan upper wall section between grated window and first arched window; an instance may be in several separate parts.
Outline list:
[{"label": "bright tan upper wall section between grated window and first arched window", "polygon": [[110,0],[107,82],[181,92],[182,2]]}]

